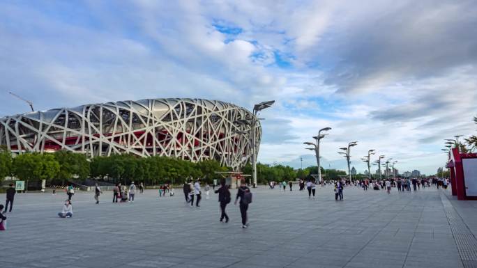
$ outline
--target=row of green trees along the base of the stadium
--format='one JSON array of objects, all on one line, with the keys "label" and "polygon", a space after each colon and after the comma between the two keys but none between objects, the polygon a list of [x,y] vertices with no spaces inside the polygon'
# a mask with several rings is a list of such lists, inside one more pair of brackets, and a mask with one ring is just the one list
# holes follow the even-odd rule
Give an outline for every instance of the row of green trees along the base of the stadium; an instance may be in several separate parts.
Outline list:
[{"label": "row of green trees along the base of the stadium", "polygon": [[[144,182],[146,185],[163,183],[181,184],[187,178],[202,178],[206,183],[222,178],[217,171],[232,171],[232,168],[220,166],[215,160],[193,163],[174,157],[136,157],[134,155],[111,155],[87,159],[85,155],[59,150],[53,153],[40,154],[29,152],[12,157],[6,148],[0,148],[0,180],[14,176],[19,180],[47,180],[49,185],[63,185],[71,181],[79,182],[86,178],[105,180],[108,182],[130,183]],[[245,165],[244,174],[252,174],[252,165]],[[291,166],[257,163],[257,182],[266,184],[271,181],[282,182],[306,180],[317,174],[317,166],[294,169]],[[324,170],[325,179],[336,180],[345,171],[335,169]]]}]

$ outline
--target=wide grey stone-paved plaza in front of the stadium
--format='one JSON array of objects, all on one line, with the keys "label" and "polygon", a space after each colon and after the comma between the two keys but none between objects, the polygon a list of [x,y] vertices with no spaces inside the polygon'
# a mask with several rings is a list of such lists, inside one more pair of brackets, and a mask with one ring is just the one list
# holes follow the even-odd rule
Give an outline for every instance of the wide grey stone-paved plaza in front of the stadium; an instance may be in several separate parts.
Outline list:
[{"label": "wide grey stone-paved plaza in front of the stadium", "polygon": [[[236,190],[232,190],[235,196]],[[331,188],[255,189],[250,227],[231,203],[219,222],[217,196],[201,207],[156,190],[135,203],[112,193],[73,196],[73,218],[59,219],[66,194],[17,194],[0,232],[2,268],[22,267],[471,267],[477,244],[477,201],[457,201],[450,189],[400,193]],[[5,195],[0,198],[5,200]]]}]

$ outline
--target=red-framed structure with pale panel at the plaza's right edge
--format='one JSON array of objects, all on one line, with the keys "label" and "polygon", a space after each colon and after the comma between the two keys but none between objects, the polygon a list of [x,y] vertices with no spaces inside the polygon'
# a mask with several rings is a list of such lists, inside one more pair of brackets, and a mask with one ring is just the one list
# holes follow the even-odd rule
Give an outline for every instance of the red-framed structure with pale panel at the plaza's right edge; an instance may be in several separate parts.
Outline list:
[{"label": "red-framed structure with pale panel at the plaza's right edge", "polygon": [[[477,178],[469,170],[476,168],[477,166],[471,166],[470,163],[466,163],[465,170],[467,171],[467,177],[464,172],[464,159],[477,159],[477,154],[470,153],[464,154],[460,153],[459,149],[453,148],[450,151],[450,160],[446,165],[450,170],[450,183],[452,184],[452,195],[457,196],[457,200],[467,200],[473,199],[477,200],[477,195],[474,193],[474,188],[469,189],[469,187],[474,187],[476,185]],[[465,161],[467,162],[467,161]],[[467,182],[467,186],[466,186]],[[472,190],[472,191],[471,191]]]}]

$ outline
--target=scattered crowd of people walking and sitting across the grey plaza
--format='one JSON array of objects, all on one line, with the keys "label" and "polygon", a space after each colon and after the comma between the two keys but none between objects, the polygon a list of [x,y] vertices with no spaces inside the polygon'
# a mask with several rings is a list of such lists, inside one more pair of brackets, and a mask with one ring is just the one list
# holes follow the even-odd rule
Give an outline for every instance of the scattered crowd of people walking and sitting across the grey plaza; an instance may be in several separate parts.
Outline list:
[{"label": "scattered crowd of people walking and sitting across the grey plaza", "polygon": [[[293,182],[286,181],[282,182],[269,182],[268,186],[269,189],[275,189],[275,186],[278,185],[280,191],[286,191],[287,186],[289,187],[289,191],[293,189]],[[385,180],[355,180],[354,182],[350,182],[349,180],[328,180],[321,182],[317,182],[316,180],[309,178],[308,180],[298,180],[298,189],[299,191],[304,191],[305,189],[308,191],[308,198],[315,199],[316,194],[316,187],[317,185],[321,185],[323,187],[326,184],[332,184],[333,192],[335,194],[335,200],[343,200],[343,191],[345,187],[350,187],[354,185],[355,187],[361,187],[364,191],[367,191],[370,187],[374,190],[386,190],[388,194],[391,194],[391,189],[394,187],[398,189],[398,191],[418,191],[421,188],[424,189],[426,187],[435,186],[437,189],[443,188],[447,189],[449,180],[447,178],[386,178]],[[213,184],[213,189],[215,190],[215,184]],[[140,193],[144,192],[144,185],[142,183],[139,184],[139,187],[136,187],[135,182],[131,182],[129,186],[121,185],[121,183],[117,183],[113,188],[113,203],[134,203],[135,194],[137,189],[139,189]],[[204,190],[206,193],[206,199],[209,199],[209,192],[211,187],[209,184],[205,184]],[[220,181],[220,187],[216,189],[214,192],[218,194],[218,202],[220,207],[220,221],[222,222],[225,219],[225,222],[229,222],[229,216],[227,215],[226,208],[227,205],[231,202],[231,193],[229,191],[230,186],[225,184],[225,180]],[[65,188],[66,194],[68,199],[65,200],[63,205],[63,209],[61,212],[58,213],[58,216],[61,218],[70,218],[73,216],[73,205],[72,205],[72,198],[75,194],[75,187],[73,184],[69,184]],[[165,196],[166,193],[169,193],[170,196],[174,195],[174,190],[169,184],[163,184],[159,188],[159,196]],[[0,230],[6,230],[6,212],[12,211],[13,208],[13,200],[15,198],[15,188],[13,184],[10,184],[10,187],[6,191],[6,205],[0,205]],[[94,187],[94,199],[96,200],[96,204],[100,203],[100,195],[103,194],[103,191],[96,183]],[[185,181],[183,184],[183,194],[185,198],[185,203],[191,206],[200,207],[199,203],[202,200],[202,187],[201,181],[198,180],[189,180]],[[245,180],[241,180],[241,185],[237,189],[236,198],[234,204],[237,205],[239,203],[239,209],[241,212],[241,222],[242,228],[248,228],[248,206],[252,203],[252,193],[250,188],[246,185]],[[9,210],[8,210],[9,208]],[[4,210],[3,210],[4,209]]]}]

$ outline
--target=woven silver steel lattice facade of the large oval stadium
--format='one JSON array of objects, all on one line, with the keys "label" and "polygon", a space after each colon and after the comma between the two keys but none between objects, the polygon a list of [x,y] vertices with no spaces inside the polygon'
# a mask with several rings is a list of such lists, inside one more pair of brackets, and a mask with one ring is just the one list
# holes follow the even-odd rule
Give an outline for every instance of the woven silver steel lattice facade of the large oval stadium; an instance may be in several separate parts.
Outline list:
[{"label": "woven silver steel lattice facade of the large oval stadium", "polygon": [[[225,166],[251,161],[250,111],[202,99],[151,99],[87,104],[0,118],[0,145],[13,153],[70,150],[88,157],[130,153]],[[239,132],[239,133],[237,133]],[[261,127],[256,125],[258,151]]]}]

